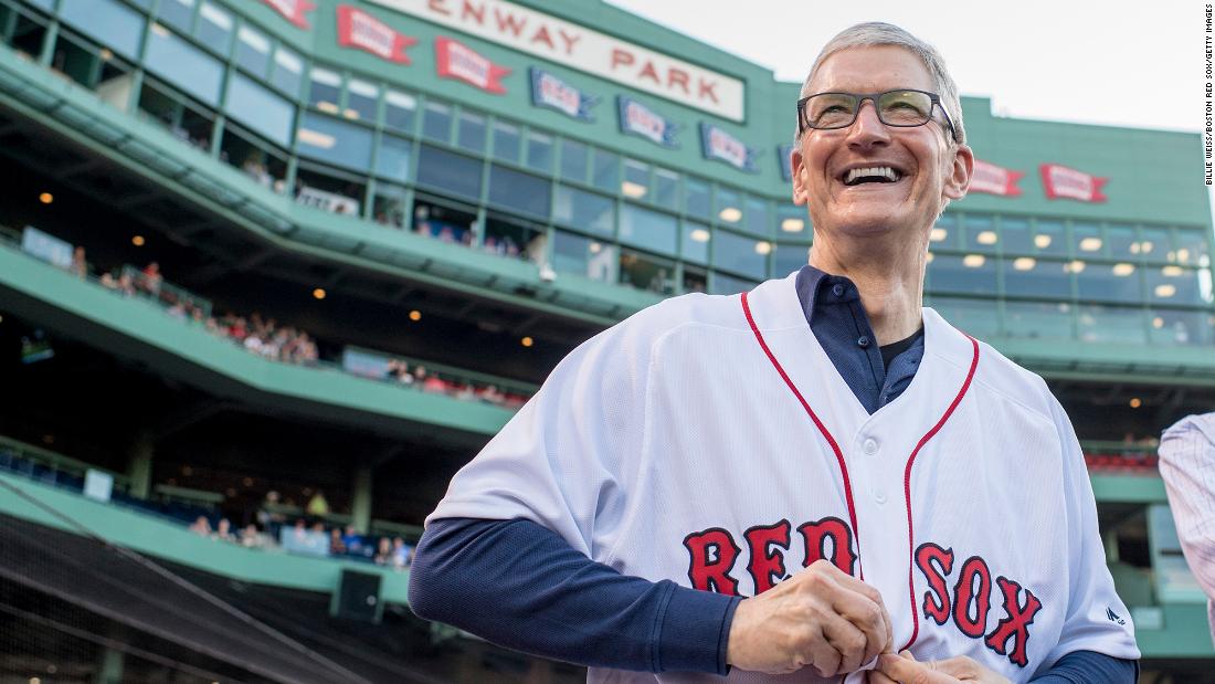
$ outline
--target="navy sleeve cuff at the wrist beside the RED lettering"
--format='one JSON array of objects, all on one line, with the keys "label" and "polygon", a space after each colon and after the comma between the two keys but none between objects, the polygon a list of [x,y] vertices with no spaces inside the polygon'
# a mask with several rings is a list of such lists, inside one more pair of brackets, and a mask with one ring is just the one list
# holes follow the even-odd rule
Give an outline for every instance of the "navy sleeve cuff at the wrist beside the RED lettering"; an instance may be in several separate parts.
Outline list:
[{"label": "navy sleeve cuff at the wrist beside the RED lettering", "polygon": [[655,671],[725,674],[730,623],[740,600],[676,586],[662,612]]}]

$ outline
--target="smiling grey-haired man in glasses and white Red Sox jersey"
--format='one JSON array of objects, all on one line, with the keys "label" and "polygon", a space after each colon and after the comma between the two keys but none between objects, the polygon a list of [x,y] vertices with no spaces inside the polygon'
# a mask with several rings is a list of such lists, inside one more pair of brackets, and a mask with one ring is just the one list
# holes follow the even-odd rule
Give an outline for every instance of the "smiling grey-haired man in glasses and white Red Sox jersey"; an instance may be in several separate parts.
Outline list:
[{"label": "smiling grey-haired man in glasses and white Red Sox jersey", "polygon": [[940,57],[852,27],[796,121],[809,264],[571,352],[428,519],[412,607],[593,682],[1134,682],[1067,417],[922,306],[973,164]]}]

